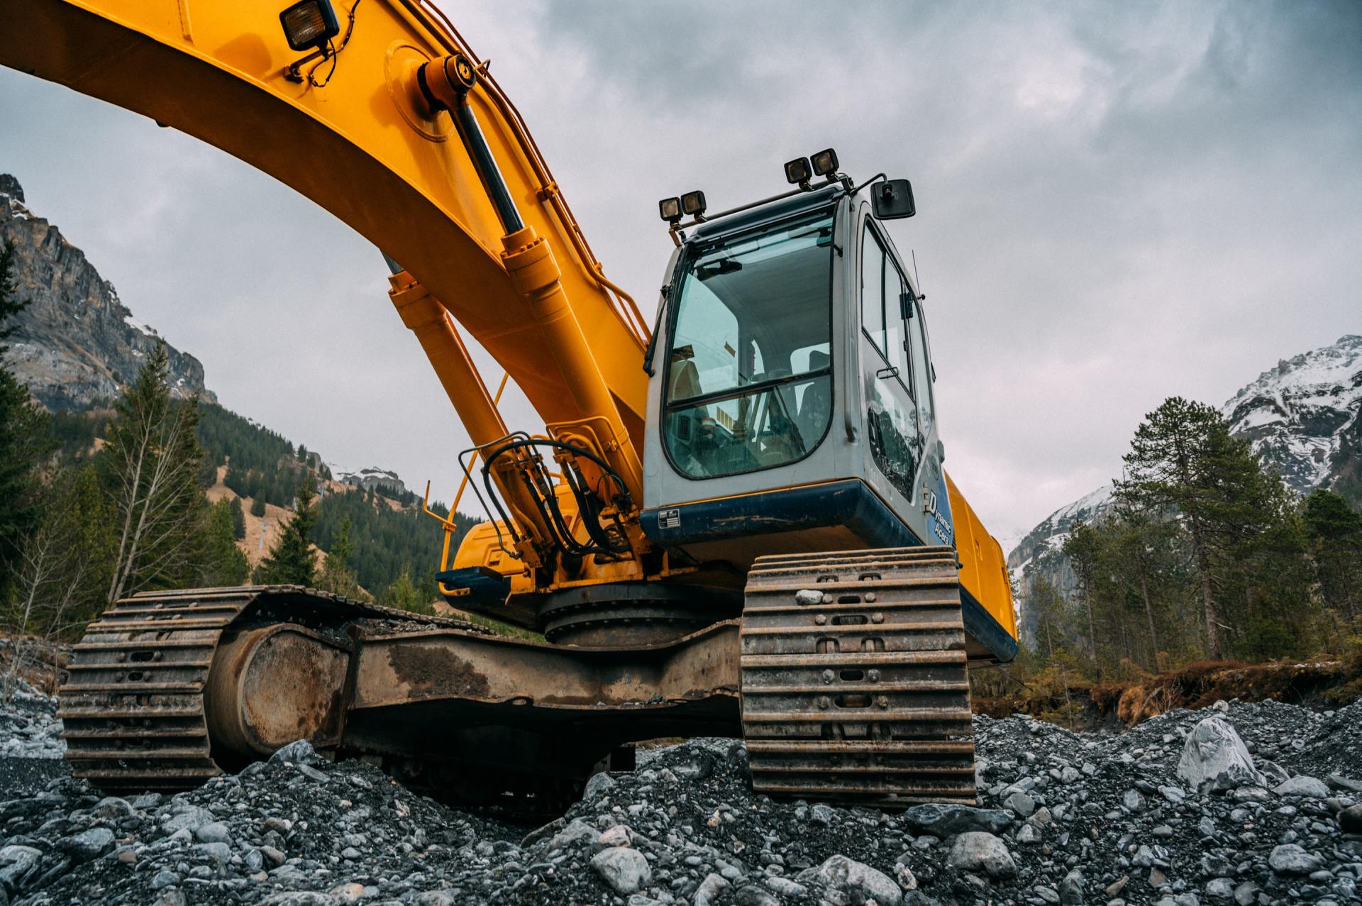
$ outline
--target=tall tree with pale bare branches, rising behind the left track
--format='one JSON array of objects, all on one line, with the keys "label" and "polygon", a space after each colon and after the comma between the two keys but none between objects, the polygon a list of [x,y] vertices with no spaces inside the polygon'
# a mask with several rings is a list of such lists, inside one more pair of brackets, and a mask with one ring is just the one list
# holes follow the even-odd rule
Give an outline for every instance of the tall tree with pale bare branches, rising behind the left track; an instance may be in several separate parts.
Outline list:
[{"label": "tall tree with pale bare branches, rising behind the left track", "polygon": [[118,537],[108,601],[192,580],[203,451],[195,437],[197,399],[170,398],[170,365],[157,343],[114,403],[101,458]]}]

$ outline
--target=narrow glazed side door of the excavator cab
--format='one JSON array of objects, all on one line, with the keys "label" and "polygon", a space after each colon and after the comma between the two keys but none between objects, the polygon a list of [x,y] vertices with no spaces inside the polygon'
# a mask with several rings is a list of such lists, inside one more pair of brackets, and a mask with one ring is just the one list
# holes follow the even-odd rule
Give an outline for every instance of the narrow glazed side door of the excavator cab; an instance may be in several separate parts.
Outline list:
[{"label": "narrow glazed side door of the excavator cab", "polygon": [[[907,501],[922,467],[926,432],[913,394],[907,315],[911,296],[889,244],[874,221],[861,233],[861,380],[865,388],[866,441],[874,469]],[[908,512],[900,512],[906,522]],[[914,526],[915,527],[915,526]]]}]

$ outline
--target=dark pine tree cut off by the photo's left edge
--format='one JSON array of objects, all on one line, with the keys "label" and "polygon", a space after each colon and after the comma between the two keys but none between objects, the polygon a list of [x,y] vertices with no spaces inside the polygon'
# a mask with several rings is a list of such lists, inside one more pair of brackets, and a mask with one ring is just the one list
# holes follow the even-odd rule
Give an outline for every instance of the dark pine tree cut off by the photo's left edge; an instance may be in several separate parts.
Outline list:
[{"label": "dark pine tree cut off by the photo's left edge", "polygon": [[11,319],[27,307],[16,297],[14,243],[0,248],[0,602],[14,587],[23,538],[41,519],[38,471],[57,447],[48,416],[4,365],[4,345],[18,331]]}]

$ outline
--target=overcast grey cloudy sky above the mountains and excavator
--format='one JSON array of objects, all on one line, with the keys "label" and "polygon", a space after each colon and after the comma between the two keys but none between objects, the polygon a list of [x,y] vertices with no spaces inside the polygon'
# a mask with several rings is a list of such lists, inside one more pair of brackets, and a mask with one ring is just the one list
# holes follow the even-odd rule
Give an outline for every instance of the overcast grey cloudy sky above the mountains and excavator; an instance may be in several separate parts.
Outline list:
[{"label": "overcast grey cloudy sky above the mountains and excavator", "polygon": [[[948,467],[1005,544],[1115,474],[1163,398],[1220,403],[1362,332],[1362,4],[444,7],[648,311],[658,198],[750,200],[827,146],[911,178],[891,230],[928,294]],[[10,69],[0,124],[0,170],[226,406],[452,496],[466,436],[368,241]]]}]

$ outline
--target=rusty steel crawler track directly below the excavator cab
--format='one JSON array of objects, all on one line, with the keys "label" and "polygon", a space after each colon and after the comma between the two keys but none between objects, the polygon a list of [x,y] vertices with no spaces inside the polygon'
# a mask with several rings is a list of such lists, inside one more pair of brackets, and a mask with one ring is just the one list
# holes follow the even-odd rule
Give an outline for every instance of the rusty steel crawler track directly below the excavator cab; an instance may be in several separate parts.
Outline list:
[{"label": "rusty steel crawler track directly below the excavator cab", "polygon": [[975,802],[953,548],[759,557],[741,639],[755,792]]}]

